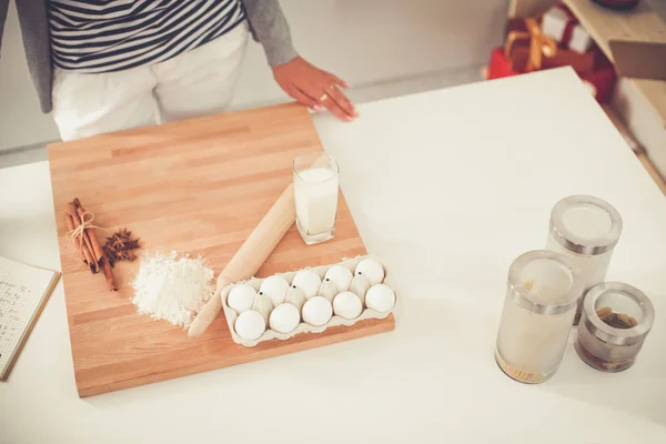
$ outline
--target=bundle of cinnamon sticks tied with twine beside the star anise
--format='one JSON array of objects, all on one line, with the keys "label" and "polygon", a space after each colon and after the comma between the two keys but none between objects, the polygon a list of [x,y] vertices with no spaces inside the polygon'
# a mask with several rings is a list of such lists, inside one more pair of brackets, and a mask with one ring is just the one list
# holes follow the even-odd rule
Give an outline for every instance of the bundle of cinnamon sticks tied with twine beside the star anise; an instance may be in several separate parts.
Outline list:
[{"label": "bundle of cinnamon sticks tied with twine beside the star anise", "polygon": [[[64,221],[70,232],[83,224],[84,214],[85,209],[78,198],[67,204]],[[107,280],[107,286],[109,286],[109,290],[118,291],[118,285],[113,279],[113,272],[111,271],[109,258],[104,255],[94,230],[84,228],[81,236],[73,238],[73,242],[74,246],[80,252],[83,262],[90,266],[90,271],[94,274],[99,273],[101,270],[104,274],[104,279]]]}]

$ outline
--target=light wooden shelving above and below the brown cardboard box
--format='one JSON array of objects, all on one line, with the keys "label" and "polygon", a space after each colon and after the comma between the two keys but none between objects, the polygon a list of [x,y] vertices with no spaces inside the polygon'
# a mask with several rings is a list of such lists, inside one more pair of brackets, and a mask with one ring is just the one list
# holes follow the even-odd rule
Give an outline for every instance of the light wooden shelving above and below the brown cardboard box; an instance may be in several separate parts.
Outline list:
[{"label": "light wooden shelving above and below the brown cardboard box", "polygon": [[[613,61],[610,40],[666,42],[666,1],[642,0],[632,11],[613,11],[589,0],[564,0],[592,34],[606,57]],[[666,82],[630,79],[666,128]]]}]

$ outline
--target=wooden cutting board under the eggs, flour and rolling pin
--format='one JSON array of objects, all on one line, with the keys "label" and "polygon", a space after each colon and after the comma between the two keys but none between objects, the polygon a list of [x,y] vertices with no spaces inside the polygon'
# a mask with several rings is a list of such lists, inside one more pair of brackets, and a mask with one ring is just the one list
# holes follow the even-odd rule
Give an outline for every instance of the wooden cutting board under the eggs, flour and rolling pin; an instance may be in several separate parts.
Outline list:
[{"label": "wooden cutting board under the eggs, flour and rolling pin", "polygon": [[[127,226],[140,254],[203,255],[221,271],[292,181],[292,161],[321,150],[309,113],[294,104],[174,122],[49,145],[60,260],[80,396],[164,381],[391,331],[393,315],[351,327],[270,341],[232,342],[223,314],[199,339],[139,315],[130,286],[139,261],[119,263],[118,293],[92,275],[65,236],[67,202],[79,198],[94,224]],[[344,172],[343,172],[344,173]],[[98,232],[103,239],[108,232]],[[258,273],[268,276],[365,253],[344,199],[336,238],[306,246],[292,228]]]}]

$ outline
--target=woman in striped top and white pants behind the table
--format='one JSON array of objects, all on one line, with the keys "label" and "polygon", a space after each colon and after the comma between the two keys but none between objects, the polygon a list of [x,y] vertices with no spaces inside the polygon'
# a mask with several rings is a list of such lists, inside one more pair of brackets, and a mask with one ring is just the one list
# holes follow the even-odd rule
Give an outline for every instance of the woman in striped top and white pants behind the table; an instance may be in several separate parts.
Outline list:
[{"label": "woman in striped top and white pants behind the table", "polygon": [[356,117],[346,82],[297,56],[278,0],[19,0],[17,9],[42,111],[53,111],[62,140],[224,111],[249,31],[290,97]]}]

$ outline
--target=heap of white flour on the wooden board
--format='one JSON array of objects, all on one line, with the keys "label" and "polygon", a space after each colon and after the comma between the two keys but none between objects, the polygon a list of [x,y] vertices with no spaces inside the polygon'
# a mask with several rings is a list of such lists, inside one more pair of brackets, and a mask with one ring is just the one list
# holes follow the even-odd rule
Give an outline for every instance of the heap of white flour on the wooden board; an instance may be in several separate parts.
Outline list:
[{"label": "heap of white flour on the wooden board", "polygon": [[213,274],[201,258],[179,258],[176,252],[147,255],[132,281],[132,303],[141,314],[188,327],[215,292]]}]

